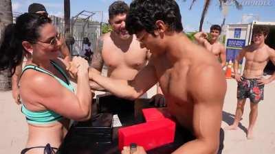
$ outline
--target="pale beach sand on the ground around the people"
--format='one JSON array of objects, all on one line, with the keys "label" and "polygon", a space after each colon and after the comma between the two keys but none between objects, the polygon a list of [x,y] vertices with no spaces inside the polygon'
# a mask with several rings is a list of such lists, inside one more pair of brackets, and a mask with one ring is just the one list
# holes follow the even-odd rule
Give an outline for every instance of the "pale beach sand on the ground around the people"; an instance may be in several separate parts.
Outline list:
[{"label": "pale beach sand on the ground around the people", "polygon": [[[223,105],[221,127],[232,124],[236,109],[236,81],[227,79],[228,90]],[[151,96],[155,90],[151,90]],[[21,114],[21,106],[14,103],[11,91],[0,92],[0,154],[20,153],[28,138],[28,127]],[[259,116],[254,128],[254,140],[247,140],[250,105],[245,105],[241,128],[224,131],[223,154],[274,154],[275,153],[275,82],[265,86],[265,100],[259,104]]]}]

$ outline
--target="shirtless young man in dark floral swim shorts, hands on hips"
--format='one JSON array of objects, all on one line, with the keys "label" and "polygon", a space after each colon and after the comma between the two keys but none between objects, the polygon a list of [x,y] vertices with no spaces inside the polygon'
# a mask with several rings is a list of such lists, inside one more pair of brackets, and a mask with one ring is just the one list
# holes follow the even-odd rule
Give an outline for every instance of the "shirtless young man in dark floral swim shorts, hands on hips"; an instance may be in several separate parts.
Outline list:
[{"label": "shirtless young man in dark floral swim shorts, hands on hips", "polygon": [[[263,70],[269,60],[275,64],[275,51],[265,44],[269,33],[268,27],[255,26],[253,28],[253,44],[244,47],[234,61],[235,79],[238,82],[237,106],[234,123],[225,129],[236,129],[243,115],[246,98],[250,99],[250,123],[248,126],[248,139],[253,139],[253,128],[258,116],[258,104],[263,100],[263,88],[275,79],[275,74],[268,79],[263,78]],[[239,61],[245,57],[243,75],[238,73]]]}]

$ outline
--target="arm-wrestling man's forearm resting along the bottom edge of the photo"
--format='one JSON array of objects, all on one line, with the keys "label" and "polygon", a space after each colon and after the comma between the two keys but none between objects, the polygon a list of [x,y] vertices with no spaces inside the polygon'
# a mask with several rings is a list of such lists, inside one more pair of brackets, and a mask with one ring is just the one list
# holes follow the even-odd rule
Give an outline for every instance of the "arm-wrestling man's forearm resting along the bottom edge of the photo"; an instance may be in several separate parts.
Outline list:
[{"label": "arm-wrestling man's forearm resting along the bottom edge of the photo", "polygon": [[219,143],[192,140],[180,146],[172,154],[216,154]]}]

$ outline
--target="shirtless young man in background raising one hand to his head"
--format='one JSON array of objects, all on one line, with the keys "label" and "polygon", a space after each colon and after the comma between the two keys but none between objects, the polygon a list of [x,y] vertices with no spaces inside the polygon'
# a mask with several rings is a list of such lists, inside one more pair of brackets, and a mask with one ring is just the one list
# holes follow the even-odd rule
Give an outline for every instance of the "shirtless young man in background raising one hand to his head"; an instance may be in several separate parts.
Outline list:
[{"label": "shirtless young man in background raising one hand to his head", "polygon": [[199,32],[195,34],[195,39],[199,44],[205,47],[208,51],[211,51],[219,62],[221,62],[221,67],[225,66],[226,55],[225,55],[225,47],[221,44],[218,39],[221,35],[221,26],[212,25],[210,27],[210,40],[208,40],[208,34],[204,32]]}]

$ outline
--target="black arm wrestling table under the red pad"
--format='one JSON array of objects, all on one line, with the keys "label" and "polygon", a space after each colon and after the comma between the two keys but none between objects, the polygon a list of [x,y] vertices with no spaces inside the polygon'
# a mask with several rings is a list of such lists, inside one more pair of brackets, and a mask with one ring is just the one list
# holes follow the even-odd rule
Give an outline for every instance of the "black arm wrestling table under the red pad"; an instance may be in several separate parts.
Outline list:
[{"label": "black arm wrestling table under the red pad", "polygon": [[[115,107],[118,107],[120,109],[120,105],[117,104],[116,101],[121,101],[118,98],[115,98],[113,96],[108,97],[107,100],[105,100],[109,103],[110,107],[112,105],[115,105]],[[102,106],[98,105],[98,98],[97,103],[93,104],[93,115],[98,114],[98,108],[101,108],[100,110],[103,111]],[[129,126],[129,125],[135,125],[138,123],[144,123],[144,118],[142,116],[142,109],[148,108],[148,107],[154,107],[153,103],[149,103],[149,99],[137,99],[133,103],[129,103],[133,105],[133,109],[131,110],[131,106],[128,106],[129,108],[123,109],[123,110],[116,110],[111,111],[114,112],[112,114],[118,114],[118,117],[120,118],[120,122],[122,123],[122,127]],[[111,107],[111,109],[115,108]],[[103,107],[104,108],[104,107]],[[159,108],[159,110],[165,110],[165,108]],[[110,111],[109,111],[110,112]],[[82,124],[81,124],[82,123]],[[77,125],[85,125],[85,122],[78,122],[78,124],[72,125],[70,127],[67,135],[65,136],[65,139],[63,140],[63,143],[58,149],[58,154],[118,154],[121,153],[118,149],[118,129],[120,127],[113,127],[112,133],[111,133],[111,142],[98,142],[93,140],[94,138],[91,138],[89,135],[83,135],[77,133]],[[172,153],[177,149],[179,146],[184,144],[184,142],[187,142],[188,140],[192,140],[192,136],[190,134],[184,134],[181,132],[181,130],[177,129],[175,133],[175,140],[173,143],[166,144],[164,146],[158,147],[156,149],[152,149],[150,151],[147,151],[148,154],[168,154]]]}]

